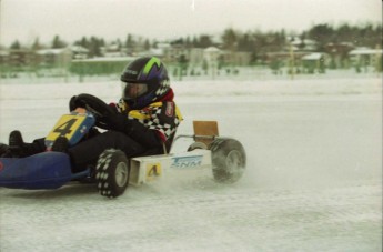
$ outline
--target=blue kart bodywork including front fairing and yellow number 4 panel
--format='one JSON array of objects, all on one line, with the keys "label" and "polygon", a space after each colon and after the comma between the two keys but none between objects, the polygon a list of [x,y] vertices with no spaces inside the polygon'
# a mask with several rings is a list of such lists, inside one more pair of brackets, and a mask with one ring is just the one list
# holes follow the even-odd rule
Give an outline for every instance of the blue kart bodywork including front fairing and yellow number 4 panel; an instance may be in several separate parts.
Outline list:
[{"label": "blue kart bodywork including front fairing and yellow number 4 panel", "polygon": [[26,158],[0,158],[0,187],[31,190],[58,189],[71,180],[90,177],[90,169],[72,173],[69,155],[49,150],[57,137],[65,137],[70,147],[77,144],[94,123],[94,115],[90,112],[71,112],[62,115],[46,138],[46,152]]}]

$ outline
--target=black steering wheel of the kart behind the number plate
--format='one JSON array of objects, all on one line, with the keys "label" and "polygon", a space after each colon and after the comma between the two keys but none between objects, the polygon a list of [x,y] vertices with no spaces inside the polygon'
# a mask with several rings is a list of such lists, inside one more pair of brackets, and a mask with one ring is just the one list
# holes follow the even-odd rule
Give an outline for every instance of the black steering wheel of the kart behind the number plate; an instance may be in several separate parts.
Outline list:
[{"label": "black steering wheel of the kart behind the number plate", "polygon": [[74,97],[74,104],[75,107],[83,107],[93,113],[95,118],[95,125],[102,129],[108,128],[107,118],[117,113],[117,111],[114,111],[101,99],[88,93],[81,93]]}]

